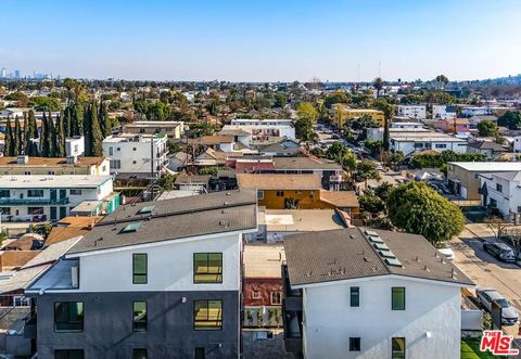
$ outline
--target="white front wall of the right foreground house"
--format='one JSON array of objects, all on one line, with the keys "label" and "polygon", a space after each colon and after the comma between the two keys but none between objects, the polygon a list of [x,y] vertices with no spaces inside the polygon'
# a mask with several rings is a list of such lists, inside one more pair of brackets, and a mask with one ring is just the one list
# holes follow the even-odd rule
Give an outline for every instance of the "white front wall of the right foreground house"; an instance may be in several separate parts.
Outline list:
[{"label": "white front wall of the right foreground house", "polygon": [[[350,286],[360,306],[350,307]],[[406,310],[391,310],[391,287],[406,287]],[[304,291],[306,358],[391,358],[391,338],[406,338],[406,357],[459,359],[460,289],[399,278],[365,279]],[[427,337],[427,333],[431,337]],[[350,337],[361,351],[350,352]]]}]

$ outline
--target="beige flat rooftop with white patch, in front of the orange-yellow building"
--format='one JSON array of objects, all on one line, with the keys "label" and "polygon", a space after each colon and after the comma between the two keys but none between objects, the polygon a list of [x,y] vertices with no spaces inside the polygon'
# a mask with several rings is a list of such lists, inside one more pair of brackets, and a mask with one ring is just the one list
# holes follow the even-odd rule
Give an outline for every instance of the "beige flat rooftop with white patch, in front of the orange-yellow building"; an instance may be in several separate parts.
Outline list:
[{"label": "beige flat rooftop with white patch, in front of the orange-yellow building", "polygon": [[258,223],[269,232],[313,232],[344,228],[334,209],[266,209]]}]

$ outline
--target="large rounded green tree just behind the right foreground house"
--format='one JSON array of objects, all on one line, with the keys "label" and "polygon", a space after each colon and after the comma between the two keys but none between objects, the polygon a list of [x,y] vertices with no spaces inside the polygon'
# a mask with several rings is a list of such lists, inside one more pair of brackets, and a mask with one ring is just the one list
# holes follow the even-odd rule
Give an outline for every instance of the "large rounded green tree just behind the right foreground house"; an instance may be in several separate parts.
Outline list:
[{"label": "large rounded green tree just behind the right foreground house", "polygon": [[465,218],[459,207],[424,182],[394,188],[387,208],[394,226],[421,234],[433,244],[448,241],[463,230]]}]

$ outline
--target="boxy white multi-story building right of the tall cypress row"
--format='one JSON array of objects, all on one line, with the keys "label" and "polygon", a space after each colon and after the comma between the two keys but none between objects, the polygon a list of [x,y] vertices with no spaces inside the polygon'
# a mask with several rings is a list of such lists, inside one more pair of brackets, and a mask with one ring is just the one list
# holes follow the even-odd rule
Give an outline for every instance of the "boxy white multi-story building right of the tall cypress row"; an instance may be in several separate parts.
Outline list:
[{"label": "boxy white multi-story building right of the tall cypress row", "polygon": [[164,134],[123,133],[103,140],[103,155],[111,158],[111,174],[118,178],[154,177],[167,165],[167,137]]}]

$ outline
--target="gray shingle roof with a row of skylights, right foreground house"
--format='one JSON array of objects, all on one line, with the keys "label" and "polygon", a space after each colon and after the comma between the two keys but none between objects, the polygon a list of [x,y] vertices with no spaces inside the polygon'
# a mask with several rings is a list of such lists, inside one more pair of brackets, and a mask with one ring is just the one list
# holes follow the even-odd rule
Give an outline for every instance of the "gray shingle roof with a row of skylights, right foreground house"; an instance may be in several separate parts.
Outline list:
[{"label": "gray shingle roof with a row of skylights, right foreground house", "polygon": [[396,267],[384,261],[364,230],[348,228],[287,236],[284,249],[291,285],[387,274],[474,285],[423,236],[368,229],[377,232],[402,262],[403,267]]}]

